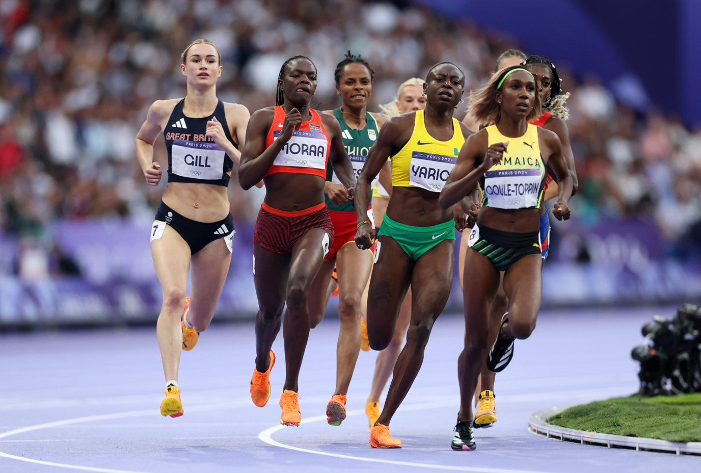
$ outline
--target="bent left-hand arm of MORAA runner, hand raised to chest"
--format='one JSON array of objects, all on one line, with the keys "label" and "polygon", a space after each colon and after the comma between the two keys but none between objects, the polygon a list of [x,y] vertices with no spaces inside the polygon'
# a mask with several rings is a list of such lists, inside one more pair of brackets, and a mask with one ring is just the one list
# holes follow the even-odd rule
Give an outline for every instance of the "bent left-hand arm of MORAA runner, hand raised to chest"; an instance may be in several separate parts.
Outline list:
[{"label": "bent left-hand arm of MORAA runner, hand raised to chest", "polygon": [[280,135],[275,138],[273,144],[267,149],[265,147],[268,129],[273,121],[274,111],[271,109],[261,109],[255,111],[248,122],[246,139],[241,150],[241,163],[238,168],[238,183],[247,191],[259,182],[268,173],[273,161],[283,150],[285,143],[290,141],[294,130],[299,129],[302,123],[299,110],[292,109],[285,115]]}]

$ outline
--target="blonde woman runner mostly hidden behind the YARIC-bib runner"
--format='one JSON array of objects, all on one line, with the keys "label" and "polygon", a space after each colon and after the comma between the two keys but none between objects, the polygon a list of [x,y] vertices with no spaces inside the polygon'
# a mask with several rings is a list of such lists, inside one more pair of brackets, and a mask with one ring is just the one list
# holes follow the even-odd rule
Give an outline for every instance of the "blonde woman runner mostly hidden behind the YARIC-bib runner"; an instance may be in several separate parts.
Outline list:
[{"label": "blonde woman runner mostly hidden behind the YARIC-bib runner", "polygon": [[[399,90],[397,90],[395,100],[389,104],[380,106],[382,113],[388,117],[393,117],[400,116],[401,114],[408,114],[411,111],[426,109],[426,97],[423,95],[423,83],[423,79],[417,77],[402,82],[399,86]],[[372,215],[375,220],[375,233],[379,233],[380,231],[392,193],[392,186],[383,186],[383,175],[388,175],[390,177],[390,179],[388,179],[388,184],[390,184],[391,168],[389,161],[382,167],[380,179],[372,187]],[[367,292],[364,296],[363,309],[367,307]],[[369,420],[370,428],[375,425],[377,418],[380,416],[380,396],[392,374],[395,362],[397,362],[397,357],[399,357],[399,352],[402,350],[404,334],[407,332],[410,319],[411,287],[407,290],[407,296],[404,297],[404,302],[402,302],[402,307],[399,310],[392,341],[387,345],[387,348],[381,350],[381,352],[377,354],[375,373],[372,377],[372,387],[370,388],[370,395],[367,397],[367,404],[365,404],[365,414]],[[367,343],[367,326],[362,319],[360,323],[364,329],[364,342]],[[367,343],[367,350],[369,349],[370,345]]]}]

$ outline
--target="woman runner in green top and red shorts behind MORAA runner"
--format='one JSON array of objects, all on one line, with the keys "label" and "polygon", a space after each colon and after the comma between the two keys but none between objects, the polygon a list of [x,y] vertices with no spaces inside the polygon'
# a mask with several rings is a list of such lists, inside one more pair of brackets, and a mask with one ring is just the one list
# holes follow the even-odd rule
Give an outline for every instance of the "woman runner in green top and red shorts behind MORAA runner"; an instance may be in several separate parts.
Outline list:
[{"label": "woman runner in green top and red shorts behind MORAA runner", "polygon": [[[374,71],[360,56],[348,51],[336,66],[336,92],[343,105],[324,111],[335,116],[341,125],[341,136],[346,152],[353,163],[355,174],[360,174],[365,157],[377,140],[381,125],[387,117],[366,110],[372,94]],[[355,246],[355,207],[346,198],[346,187],[334,173],[332,163],[327,166],[325,199],[334,222],[334,241],[309,291],[311,327],[324,318],[329,301],[329,282],[337,267],[339,286],[339,343],[336,348],[336,388],[326,406],[329,425],[341,425],[346,418],[346,394],[360,352],[360,303],[372,271],[373,254]],[[374,248],[372,248],[374,250]]]}]

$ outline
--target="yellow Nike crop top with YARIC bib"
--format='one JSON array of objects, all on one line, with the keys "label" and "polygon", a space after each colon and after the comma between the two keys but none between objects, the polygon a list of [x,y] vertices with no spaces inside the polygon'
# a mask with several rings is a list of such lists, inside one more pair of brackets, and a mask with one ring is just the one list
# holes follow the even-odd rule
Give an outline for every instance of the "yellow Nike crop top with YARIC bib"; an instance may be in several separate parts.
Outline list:
[{"label": "yellow Nike crop top with YARIC bib", "polygon": [[460,122],[453,118],[453,137],[440,142],[426,131],[423,110],[416,111],[414,132],[409,142],[392,156],[392,185],[421,187],[440,192],[458,161],[465,137]]}]

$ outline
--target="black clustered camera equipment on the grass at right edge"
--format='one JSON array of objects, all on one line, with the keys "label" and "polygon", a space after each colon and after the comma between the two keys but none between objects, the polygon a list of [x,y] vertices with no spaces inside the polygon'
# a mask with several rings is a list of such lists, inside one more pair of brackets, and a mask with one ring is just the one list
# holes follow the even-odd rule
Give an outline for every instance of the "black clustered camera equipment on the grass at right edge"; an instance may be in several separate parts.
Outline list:
[{"label": "black clustered camera equipment on the grass at right edge", "polygon": [[640,394],[701,392],[701,308],[679,306],[672,320],[655,315],[642,332],[644,345],[630,354],[640,362]]}]

